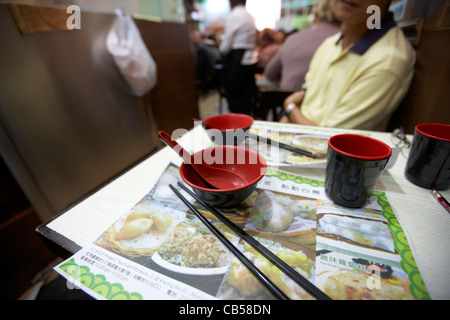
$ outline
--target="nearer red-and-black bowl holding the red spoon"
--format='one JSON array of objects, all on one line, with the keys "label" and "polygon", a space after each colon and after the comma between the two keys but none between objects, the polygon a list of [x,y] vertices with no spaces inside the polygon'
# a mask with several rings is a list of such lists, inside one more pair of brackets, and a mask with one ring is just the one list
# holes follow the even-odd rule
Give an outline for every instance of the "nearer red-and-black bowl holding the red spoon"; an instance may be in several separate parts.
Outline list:
[{"label": "nearer red-and-black bowl holding the red spoon", "polygon": [[[216,153],[216,150],[220,152]],[[208,165],[236,172],[244,177],[248,184],[231,189],[211,189],[198,176],[195,170],[185,163],[180,166],[181,179],[192,187],[194,192],[206,203],[217,207],[231,207],[245,200],[256,189],[258,182],[267,170],[266,160],[258,152],[240,146],[217,146],[198,151],[196,157],[206,159]],[[228,160],[228,161],[227,161]]]}]

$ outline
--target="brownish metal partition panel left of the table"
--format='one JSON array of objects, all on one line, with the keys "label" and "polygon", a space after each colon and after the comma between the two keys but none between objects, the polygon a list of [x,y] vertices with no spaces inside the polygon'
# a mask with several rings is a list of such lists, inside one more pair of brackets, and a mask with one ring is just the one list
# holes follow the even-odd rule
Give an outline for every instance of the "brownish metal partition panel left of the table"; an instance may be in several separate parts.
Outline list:
[{"label": "brownish metal partition panel left of the table", "polygon": [[82,13],[80,30],[21,34],[0,5],[0,151],[42,220],[159,146],[149,97],[106,51],[113,19]]}]

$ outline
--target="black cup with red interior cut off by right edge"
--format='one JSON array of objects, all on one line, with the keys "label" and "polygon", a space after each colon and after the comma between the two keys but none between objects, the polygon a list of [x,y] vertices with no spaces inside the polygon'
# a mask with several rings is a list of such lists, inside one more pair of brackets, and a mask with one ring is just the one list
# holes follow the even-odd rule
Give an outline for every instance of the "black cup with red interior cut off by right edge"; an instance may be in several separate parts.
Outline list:
[{"label": "black cup with red interior cut off by right edge", "polygon": [[450,125],[416,126],[405,175],[412,183],[427,189],[450,188]]}]

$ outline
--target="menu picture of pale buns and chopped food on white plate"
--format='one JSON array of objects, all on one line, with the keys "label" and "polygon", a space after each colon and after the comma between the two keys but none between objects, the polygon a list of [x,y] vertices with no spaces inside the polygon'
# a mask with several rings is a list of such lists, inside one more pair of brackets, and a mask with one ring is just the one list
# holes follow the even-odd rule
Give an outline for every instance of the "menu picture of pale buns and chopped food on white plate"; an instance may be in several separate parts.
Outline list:
[{"label": "menu picture of pale buns and chopped food on white plate", "polygon": [[[169,188],[178,178],[178,167],[170,165],[149,194],[96,244],[171,278],[200,284],[202,290],[215,294],[232,254]],[[237,242],[236,236],[226,234]]]}]

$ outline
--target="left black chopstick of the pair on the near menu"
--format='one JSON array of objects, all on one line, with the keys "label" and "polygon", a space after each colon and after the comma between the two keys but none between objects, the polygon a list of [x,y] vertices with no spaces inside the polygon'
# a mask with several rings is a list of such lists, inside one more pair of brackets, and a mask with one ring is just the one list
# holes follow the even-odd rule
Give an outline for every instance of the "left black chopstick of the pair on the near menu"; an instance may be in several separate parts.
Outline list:
[{"label": "left black chopstick of the pair on the near menu", "polygon": [[219,240],[261,281],[261,283],[278,299],[289,300],[269,278],[266,277],[247,257],[239,251],[219,230],[216,229],[197,209],[173,186],[169,185],[184,204],[199,218]]}]

